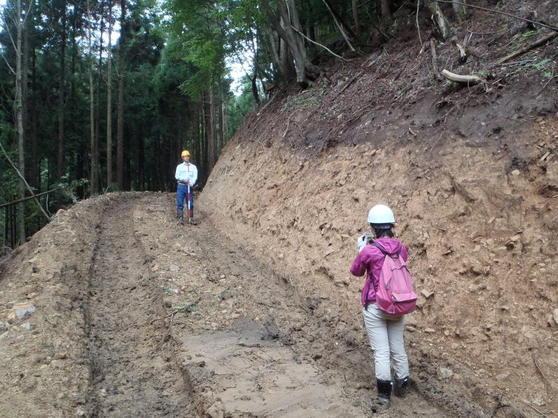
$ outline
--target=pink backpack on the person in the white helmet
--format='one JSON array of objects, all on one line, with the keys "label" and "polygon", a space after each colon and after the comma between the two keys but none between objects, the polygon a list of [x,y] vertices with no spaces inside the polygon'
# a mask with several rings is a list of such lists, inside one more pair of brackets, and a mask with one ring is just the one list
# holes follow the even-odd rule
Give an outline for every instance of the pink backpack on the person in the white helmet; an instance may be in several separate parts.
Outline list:
[{"label": "pink backpack on the person in the white helmet", "polygon": [[407,263],[400,256],[401,250],[392,256],[377,242],[372,242],[384,254],[384,264],[379,274],[376,290],[376,303],[379,309],[390,315],[405,315],[416,307],[416,293]]}]

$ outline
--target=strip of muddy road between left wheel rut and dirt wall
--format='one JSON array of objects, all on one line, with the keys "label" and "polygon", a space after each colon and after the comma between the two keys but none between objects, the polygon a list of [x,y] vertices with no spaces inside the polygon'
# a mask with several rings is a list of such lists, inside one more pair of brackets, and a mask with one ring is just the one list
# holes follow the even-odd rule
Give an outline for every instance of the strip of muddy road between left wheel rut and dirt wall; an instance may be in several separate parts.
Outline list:
[{"label": "strip of muddy road between left wheel rut and dirt wall", "polygon": [[198,226],[174,226],[174,203],[167,199],[144,199],[135,216],[149,218],[140,235],[151,250],[153,271],[174,289],[163,290],[167,306],[195,303],[195,311],[174,316],[172,338],[182,344],[178,355],[199,415],[482,416],[465,403],[439,405],[420,388],[409,390],[405,399],[394,398],[389,411],[372,415],[373,357],[363,330],[362,341],[354,341],[349,332],[340,332],[343,324],[331,325],[335,314],[315,314],[327,297],[301,297],[287,277],[225,240],[203,213]]}]

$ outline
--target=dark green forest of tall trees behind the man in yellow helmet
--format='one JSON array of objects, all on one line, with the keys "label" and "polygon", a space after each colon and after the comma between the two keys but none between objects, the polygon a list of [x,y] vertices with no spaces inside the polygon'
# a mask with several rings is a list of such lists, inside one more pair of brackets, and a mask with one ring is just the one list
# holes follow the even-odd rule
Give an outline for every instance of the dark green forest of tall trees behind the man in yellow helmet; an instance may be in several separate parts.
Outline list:
[{"label": "dark green forest of tall trees behind the man in yellow helmet", "polygon": [[378,49],[417,12],[435,36],[451,38],[446,15],[461,19],[467,6],[447,3],[8,0],[2,245],[24,242],[77,199],[173,190],[183,149],[203,185],[243,116],[282,86],[307,88],[322,63]]}]

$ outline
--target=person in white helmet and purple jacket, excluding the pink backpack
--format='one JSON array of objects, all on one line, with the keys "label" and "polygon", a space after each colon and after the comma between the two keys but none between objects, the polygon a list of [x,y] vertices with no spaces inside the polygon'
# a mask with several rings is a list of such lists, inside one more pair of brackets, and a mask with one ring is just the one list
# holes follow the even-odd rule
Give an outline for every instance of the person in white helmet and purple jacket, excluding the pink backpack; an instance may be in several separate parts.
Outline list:
[{"label": "person in white helmet and purple jacket, excluding the pink backpack", "polygon": [[[407,261],[409,256],[407,247],[393,238],[395,217],[388,206],[376,205],[370,209],[368,224],[375,235],[376,244],[379,244],[387,254],[399,254]],[[351,273],[357,277],[366,273],[361,302],[364,325],[374,352],[378,396],[373,410],[378,412],[389,408],[392,388],[395,396],[405,396],[405,389],[409,382],[409,361],[403,339],[404,316],[386,314],[375,303],[376,289],[385,256],[382,250],[370,244],[370,234],[361,235],[357,240],[359,255],[351,265]],[[391,378],[390,357],[393,360],[395,385]]]}]

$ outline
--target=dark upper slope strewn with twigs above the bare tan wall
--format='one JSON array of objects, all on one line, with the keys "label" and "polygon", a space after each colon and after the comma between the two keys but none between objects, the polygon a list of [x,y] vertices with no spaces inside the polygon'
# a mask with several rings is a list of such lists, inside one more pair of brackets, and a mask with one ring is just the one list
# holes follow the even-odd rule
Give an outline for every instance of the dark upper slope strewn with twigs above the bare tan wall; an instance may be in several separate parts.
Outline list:
[{"label": "dark upper slope strewn with twigs above the bare tan wall", "polygon": [[[508,1],[506,13],[536,9],[545,22],[558,22],[558,1]],[[558,40],[554,38],[504,63],[552,31],[528,29],[525,22],[482,10],[453,23],[469,55],[460,61],[453,42],[418,41],[415,16],[402,23],[398,38],[375,52],[323,65],[321,77],[305,91],[290,84],[262,110],[250,114],[236,135],[243,141],[317,156],[336,144],[376,142],[391,149],[444,146],[453,138],[471,146],[509,143],[508,136],[534,116],[555,114],[558,100]],[[426,26],[426,22],[425,23]],[[425,27],[423,26],[423,27]],[[455,84],[437,72],[476,75],[475,86]],[[270,120],[272,123],[269,123]],[[389,139],[389,143],[386,140]]]}]

